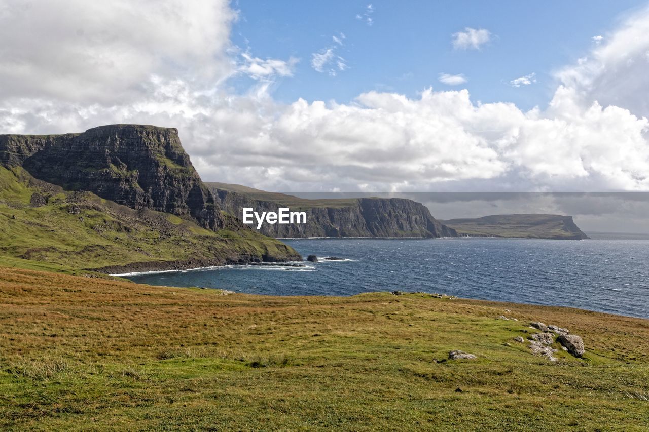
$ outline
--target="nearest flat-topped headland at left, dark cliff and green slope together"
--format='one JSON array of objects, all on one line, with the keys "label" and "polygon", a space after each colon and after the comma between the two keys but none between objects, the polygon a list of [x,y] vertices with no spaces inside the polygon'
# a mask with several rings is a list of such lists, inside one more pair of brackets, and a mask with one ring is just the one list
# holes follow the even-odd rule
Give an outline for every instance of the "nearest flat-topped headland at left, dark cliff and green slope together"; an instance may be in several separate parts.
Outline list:
[{"label": "nearest flat-topped headland at left, dark cliff and green slope together", "polygon": [[301,259],[221,210],[175,130],[154,126],[0,136],[0,240],[0,263],[70,272]]}]

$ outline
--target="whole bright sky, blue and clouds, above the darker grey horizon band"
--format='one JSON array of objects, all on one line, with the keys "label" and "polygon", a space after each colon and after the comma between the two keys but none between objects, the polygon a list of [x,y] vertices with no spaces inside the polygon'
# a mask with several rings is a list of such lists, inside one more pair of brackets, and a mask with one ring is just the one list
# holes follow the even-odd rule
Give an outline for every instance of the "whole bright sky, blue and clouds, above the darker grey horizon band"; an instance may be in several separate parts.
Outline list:
[{"label": "whole bright sky, blue and clouds, above the darker grey horizon band", "polygon": [[0,133],[284,192],[649,190],[649,2],[0,0]]}]

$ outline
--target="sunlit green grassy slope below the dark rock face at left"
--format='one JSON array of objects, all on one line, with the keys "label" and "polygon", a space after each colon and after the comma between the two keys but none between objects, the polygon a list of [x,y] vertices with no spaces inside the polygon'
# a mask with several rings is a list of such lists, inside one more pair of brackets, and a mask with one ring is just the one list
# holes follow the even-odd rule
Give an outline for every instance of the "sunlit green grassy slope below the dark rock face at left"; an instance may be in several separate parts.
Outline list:
[{"label": "sunlit green grassy slope below the dark rock face at left", "polygon": [[134,210],[0,166],[0,264],[120,272],[299,258],[275,239],[232,226],[210,230],[189,217]]}]

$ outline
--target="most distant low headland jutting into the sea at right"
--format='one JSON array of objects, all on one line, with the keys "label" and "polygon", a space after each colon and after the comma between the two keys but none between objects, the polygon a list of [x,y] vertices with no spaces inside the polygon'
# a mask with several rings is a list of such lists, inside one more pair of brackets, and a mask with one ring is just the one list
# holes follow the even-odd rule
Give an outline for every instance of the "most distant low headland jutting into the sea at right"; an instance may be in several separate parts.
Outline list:
[{"label": "most distant low headland jutting into the sea at right", "polygon": [[457,230],[459,235],[558,240],[582,240],[588,238],[572,221],[572,216],[543,214],[491,215],[476,219],[450,219],[441,222]]}]

